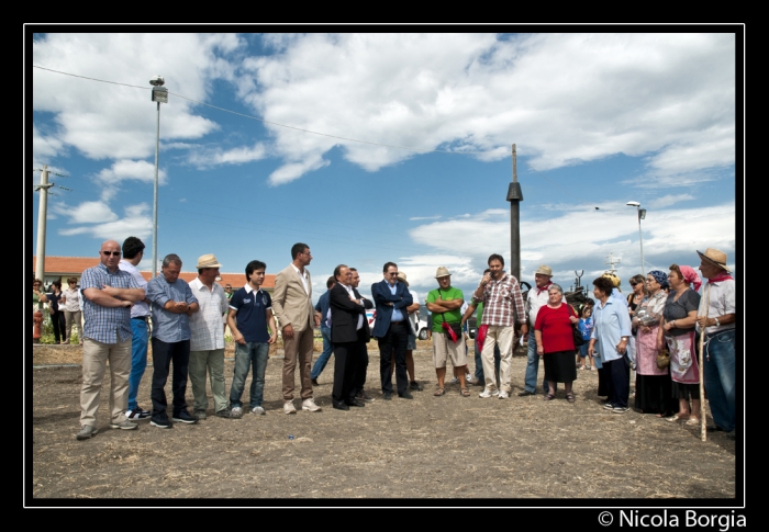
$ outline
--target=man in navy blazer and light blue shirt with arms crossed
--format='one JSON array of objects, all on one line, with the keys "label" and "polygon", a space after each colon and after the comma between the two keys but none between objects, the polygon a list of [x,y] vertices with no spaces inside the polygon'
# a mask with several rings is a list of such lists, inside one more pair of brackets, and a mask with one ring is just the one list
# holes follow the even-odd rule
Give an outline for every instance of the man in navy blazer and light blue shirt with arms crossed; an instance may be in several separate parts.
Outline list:
[{"label": "man in navy blazer and light blue shirt with arms crossed", "polygon": [[411,331],[406,307],[413,303],[413,298],[405,283],[398,281],[398,264],[386,262],[382,273],[384,279],[371,285],[371,297],[377,305],[377,321],[371,336],[379,342],[379,373],[382,380],[383,399],[392,398],[390,353],[393,350],[398,396],[403,399],[413,399],[414,397],[406,389],[409,375],[405,369],[405,351],[409,331]]}]

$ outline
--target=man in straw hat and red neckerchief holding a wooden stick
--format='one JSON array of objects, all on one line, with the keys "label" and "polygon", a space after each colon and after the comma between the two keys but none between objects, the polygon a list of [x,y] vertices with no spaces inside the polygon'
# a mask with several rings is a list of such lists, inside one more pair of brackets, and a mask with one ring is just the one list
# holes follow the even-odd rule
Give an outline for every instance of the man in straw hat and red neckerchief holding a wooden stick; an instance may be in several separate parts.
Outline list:
[{"label": "man in straw hat and red neckerchief holding a wooden stick", "polygon": [[[735,306],[734,278],[726,265],[726,253],[707,248],[700,256],[700,272],[707,280],[700,286],[696,329],[704,329],[703,374],[707,401],[715,427],[709,430],[732,432],[736,421],[736,359],[734,349]],[[734,433],[734,432],[732,432]]]}]

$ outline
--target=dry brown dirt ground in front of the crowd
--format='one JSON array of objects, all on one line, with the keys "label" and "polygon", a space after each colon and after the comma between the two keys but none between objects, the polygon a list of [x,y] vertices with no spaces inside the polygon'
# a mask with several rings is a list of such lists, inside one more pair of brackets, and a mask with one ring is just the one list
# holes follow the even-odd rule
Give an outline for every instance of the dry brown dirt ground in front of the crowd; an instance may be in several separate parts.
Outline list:
[{"label": "dry brown dirt ground in front of the crowd", "polygon": [[[266,416],[215,418],[210,398],[209,418],[198,425],[160,430],[142,420],[138,430],[111,430],[102,395],[99,433],[77,441],[80,348],[36,346],[27,370],[32,378],[25,381],[32,386],[24,412],[32,428],[25,431],[26,493],[33,499],[163,499],[168,505],[174,498],[735,498],[736,471],[743,471],[735,441],[716,432],[702,442],[699,428],[634,410],[612,414],[595,394],[597,372],[577,372],[575,404],[565,400],[562,389],[553,401],[540,394],[517,397],[526,358],[516,353],[510,399],[481,399],[480,386],[471,386],[471,397],[465,398],[458,385],[434,397],[431,343],[420,341],[414,359],[424,390],[414,392],[413,400],[384,401],[376,348],[369,344],[367,381],[375,401],[365,408],[331,408],[332,359],[314,390],[323,411],[283,415],[283,361],[277,351],[267,364]],[[225,356],[232,353],[229,346]],[[227,393],[232,370],[233,360],[225,360]],[[140,388],[144,408],[152,406],[151,377],[152,363]],[[166,394],[170,399],[170,380]],[[189,385],[187,400],[192,405]],[[330,503],[338,502],[307,506]]]}]

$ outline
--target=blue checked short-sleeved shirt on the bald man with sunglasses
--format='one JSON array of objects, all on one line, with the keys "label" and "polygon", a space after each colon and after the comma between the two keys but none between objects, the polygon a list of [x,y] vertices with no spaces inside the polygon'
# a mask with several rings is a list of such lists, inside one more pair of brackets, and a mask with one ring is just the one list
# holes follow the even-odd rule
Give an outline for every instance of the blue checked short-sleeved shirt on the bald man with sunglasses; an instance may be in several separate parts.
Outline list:
[{"label": "blue checked short-sleeved shirt on the bald man with sunglasses", "polygon": [[[80,288],[103,290],[104,285],[113,288],[138,288],[136,280],[122,270],[110,272],[104,264],[98,264],[82,272]],[[86,318],[83,336],[102,343],[122,343],[133,337],[131,331],[131,308],[103,307],[82,297],[82,310]]]}]

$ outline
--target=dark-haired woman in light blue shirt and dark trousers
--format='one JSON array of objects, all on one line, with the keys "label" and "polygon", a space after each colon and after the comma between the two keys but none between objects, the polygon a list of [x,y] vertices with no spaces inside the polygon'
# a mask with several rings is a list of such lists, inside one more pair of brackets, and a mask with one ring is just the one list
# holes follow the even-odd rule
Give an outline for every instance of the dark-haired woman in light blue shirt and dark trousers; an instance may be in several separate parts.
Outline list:
[{"label": "dark-haired woman in light blue shirt and dark trousers", "polygon": [[631,392],[631,366],[627,360],[627,342],[631,338],[631,317],[623,304],[624,297],[612,296],[611,279],[601,276],[593,281],[593,295],[598,299],[593,312],[594,325],[588,352],[593,355],[595,347],[601,353],[609,401],[603,406],[615,414],[629,410],[627,398]]}]

